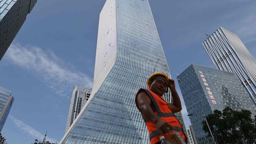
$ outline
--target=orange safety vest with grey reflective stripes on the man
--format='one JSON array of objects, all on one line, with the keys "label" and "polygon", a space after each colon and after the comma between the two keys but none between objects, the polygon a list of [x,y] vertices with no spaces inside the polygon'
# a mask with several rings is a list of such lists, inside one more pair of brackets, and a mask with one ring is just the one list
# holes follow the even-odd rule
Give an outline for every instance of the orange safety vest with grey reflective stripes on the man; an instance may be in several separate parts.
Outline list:
[{"label": "orange safety vest with grey reflective stripes on the man", "polygon": [[[173,130],[178,131],[180,133],[180,135],[182,136],[182,138],[184,139],[184,141],[187,143],[187,137],[186,137],[185,133],[183,132],[180,122],[176,118],[176,116],[173,113],[173,111],[171,110],[171,108],[168,106],[167,102],[165,102],[165,100],[163,100],[163,98],[161,98],[161,96],[158,96],[157,94],[155,94],[154,92],[152,92],[149,89],[139,89],[139,91],[137,92],[136,97],[135,97],[136,106],[138,107],[137,96],[142,91],[145,91],[148,94],[152,103],[154,104],[155,109],[156,109],[155,114],[161,120],[164,120],[165,122],[168,122],[169,124],[171,124],[171,126],[173,126]],[[148,128],[150,143],[155,144],[155,143],[159,142],[160,140],[158,139],[158,135],[160,135],[160,131],[156,128],[156,125],[153,122],[149,121],[147,118],[145,118],[145,116],[142,116],[142,118]]]}]

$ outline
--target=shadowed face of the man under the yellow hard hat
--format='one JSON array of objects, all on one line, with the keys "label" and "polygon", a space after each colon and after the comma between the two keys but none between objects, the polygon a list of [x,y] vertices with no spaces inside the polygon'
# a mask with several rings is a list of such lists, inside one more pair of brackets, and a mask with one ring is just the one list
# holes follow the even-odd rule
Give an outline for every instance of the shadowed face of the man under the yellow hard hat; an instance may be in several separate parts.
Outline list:
[{"label": "shadowed face of the man under the yellow hard hat", "polygon": [[166,87],[166,80],[164,78],[158,77],[150,83],[149,89],[158,94],[159,96],[162,96],[165,93]]}]

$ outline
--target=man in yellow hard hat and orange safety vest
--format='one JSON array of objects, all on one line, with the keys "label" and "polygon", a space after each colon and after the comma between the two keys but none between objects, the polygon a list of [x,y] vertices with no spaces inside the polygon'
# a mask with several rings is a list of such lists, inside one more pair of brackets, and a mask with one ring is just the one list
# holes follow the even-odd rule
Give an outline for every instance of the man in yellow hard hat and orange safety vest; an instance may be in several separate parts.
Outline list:
[{"label": "man in yellow hard hat and orange safety vest", "polygon": [[[187,137],[182,125],[174,113],[182,110],[179,95],[175,89],[173,79],[162,73],[154,73],[147,80],[148,89],[139,89],[136,94],[136,106],[142,114],[147,125],[150,143],[160,143],[159,135],[178,131],[187,143]],[[162,96],[171,89],[173,103],[167,103]]]}]

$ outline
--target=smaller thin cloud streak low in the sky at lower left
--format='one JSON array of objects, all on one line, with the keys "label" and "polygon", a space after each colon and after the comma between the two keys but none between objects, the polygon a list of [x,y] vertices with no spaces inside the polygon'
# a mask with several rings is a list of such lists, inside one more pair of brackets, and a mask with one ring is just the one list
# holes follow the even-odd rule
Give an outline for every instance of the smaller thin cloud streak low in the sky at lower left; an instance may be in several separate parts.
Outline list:
[{"label": "smaller thin cloud streak low in the sky at lower left", "polygon": [[[14,124],[19,127],[22,131],[28,133],[30,136],[32,136],[35,139],[43,140],[45,135],[40,133],[39,131],[35,130],[33,127],[26,125],[22,120],[18,120],[13,116],[10,116],[11,120],[13,120]],[[46,137],[46,140],[49,142],[57,142],[56,139]]]}]

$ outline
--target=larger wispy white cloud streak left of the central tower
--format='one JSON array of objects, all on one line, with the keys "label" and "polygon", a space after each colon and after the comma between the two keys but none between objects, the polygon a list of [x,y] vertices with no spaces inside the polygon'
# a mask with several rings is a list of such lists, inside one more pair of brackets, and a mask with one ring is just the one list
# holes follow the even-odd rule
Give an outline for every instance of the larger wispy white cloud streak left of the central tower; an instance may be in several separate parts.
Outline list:
[{"label": "larger wispy white cloud streak left of the central tower", "polygon": [[11,44],[5,58],[42,78],[59,95],[70,93],[75,85],[90,88],[93,84],[89,76],[75,70],[50,50],[45,52],[35,46]]}]

